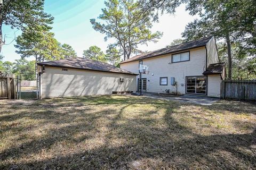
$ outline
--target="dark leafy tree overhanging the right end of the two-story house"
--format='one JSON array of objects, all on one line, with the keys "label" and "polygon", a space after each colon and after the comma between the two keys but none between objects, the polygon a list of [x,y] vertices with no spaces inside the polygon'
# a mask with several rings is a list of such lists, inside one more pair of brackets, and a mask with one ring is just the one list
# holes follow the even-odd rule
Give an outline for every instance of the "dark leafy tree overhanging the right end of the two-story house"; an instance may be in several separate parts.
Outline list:
[{"label": "dark leafy tree overhanging the right end of the two-story house", "polygon": [[[232,62],[237,56],[240,56],[240,60],[247,58],[248,63],[253,63],[252,57],[256,57],[254,0],[141,0],[141,2],[144,10],[156,10],[157,14],[159,10],[174,13],[175,8],[181,3],[186,3],[186,10],[191,15],[198,14],[200,18],[187,24],[182,37],[189,41],[214,35],[220,42],[226,41],[224,45],[227,50],[229,79],[233,78]],[[237,56],[233,56],[234,53]]]}]

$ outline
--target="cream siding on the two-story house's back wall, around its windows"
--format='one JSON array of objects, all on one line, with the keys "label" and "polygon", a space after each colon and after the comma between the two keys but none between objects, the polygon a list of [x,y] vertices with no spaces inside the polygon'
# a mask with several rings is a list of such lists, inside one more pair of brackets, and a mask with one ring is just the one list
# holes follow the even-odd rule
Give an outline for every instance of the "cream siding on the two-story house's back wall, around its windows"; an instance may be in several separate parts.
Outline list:
[{"label": "cream siding on the two-story house's back wall, around its windows", "polygon": [[[147,78],[148,92],[165,92],[170,89],[175,92],[174,86],[171,86],[171,77],[177,81],[178,93],[186,92],[186,76],[202,75],[205,71],[206,49],[205,47],[190,50],[190,61],[171,63],[172,55],[163,55],[159,57],[147,58],[143,64],[149,66],[149,74],[142,74],[142,78]],[[121,64],[121,68],[138,73],[139,61]],[[154,74],[154,75],[152,75]],[[167,86],[159,85],[160,77],[168,77]],[[137,76],[137,79],[139,77]],[[183,84],[183,86],[181,86]]]}]

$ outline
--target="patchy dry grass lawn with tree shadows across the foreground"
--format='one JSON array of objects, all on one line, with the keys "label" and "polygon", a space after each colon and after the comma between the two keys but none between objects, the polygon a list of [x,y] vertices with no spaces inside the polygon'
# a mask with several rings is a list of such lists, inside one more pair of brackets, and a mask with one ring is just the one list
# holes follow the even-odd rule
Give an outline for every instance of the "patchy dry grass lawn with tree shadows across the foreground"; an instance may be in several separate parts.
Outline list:
[{"label": "patchy dry grass lawn with tree shadows across the foreground", "polygon": [[0,100],[0,169],[255,169],[256,105]]}]

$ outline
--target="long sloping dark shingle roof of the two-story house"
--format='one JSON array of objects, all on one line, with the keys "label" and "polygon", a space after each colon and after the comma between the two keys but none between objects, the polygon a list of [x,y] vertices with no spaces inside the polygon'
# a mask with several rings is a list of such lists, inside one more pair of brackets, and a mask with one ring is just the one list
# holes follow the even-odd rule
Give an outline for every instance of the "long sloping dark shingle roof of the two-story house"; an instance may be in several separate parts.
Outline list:
[{"label": "long sloping dark shingle roof of the two-story house", "polygon": [[170,53],[175,53],[175,52],[180,52],[183,50],[188,50],[188,49],[192,49],[192,48],[198,48],[198,47],[203,47],[205,46],[208,41],[211,39],[212,37],[205,37],[205,38],[201,38],[198,40],[194,40],[194,41],[190,41],[187,43],[182,43],[179,45],[175,45],[175,46],[170,46],[170,47],[165,47],[162,49],[158,49],[158,50],[154,50],[153,52],[148,52],[145,54],[140,54],[134,57],[131,57],[121,63],[127,63],[127,62],[132,62],[132,61],[138,61],[138,60],[143,60],[145,58],[151,58],[151,57],[156,57],[156,56],[160,56],[160,55],[165,55],[165,54],[170,54]]}]

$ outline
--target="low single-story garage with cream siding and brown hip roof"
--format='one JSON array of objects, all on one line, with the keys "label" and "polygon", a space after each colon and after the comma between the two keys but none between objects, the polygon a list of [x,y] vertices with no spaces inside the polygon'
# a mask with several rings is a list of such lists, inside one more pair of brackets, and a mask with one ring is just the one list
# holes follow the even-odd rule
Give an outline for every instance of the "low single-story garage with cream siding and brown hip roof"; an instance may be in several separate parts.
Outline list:
[{"label": "low single-story garage with cream siding and brown hip roof", "polygon": [[136,91],[137,74],[85,58],[41,62],[37,70],[40,98]]}]

